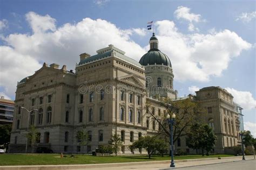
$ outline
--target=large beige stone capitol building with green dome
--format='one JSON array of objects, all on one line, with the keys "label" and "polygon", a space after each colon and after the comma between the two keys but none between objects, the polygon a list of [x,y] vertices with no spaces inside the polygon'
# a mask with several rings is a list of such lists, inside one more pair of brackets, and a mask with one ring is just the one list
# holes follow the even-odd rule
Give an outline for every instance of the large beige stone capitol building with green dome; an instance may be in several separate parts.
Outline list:
[{"label": "large beige stone capitol building with green dome", "polygon": [[[150,103],[154,117],[163,118],[166,110],[159,101],[161,97],[177,101],[191,98],[205,108],[205,123],[217,136],[215,153],[224,153],[224,147],[240,144],[242,108],[233,102],[232,94],[220,87],[205,87],[196,95],[178,97],[171,61],[158,48],[154,33],[149,43],[150,50],[139,62],[109,45],[98,49],[95,55],[80,54],[75,72],[65,65],[44,63],[35,74],[19,81],[10,152],[25,152],[25,134],[29,125],[35,125],[40,136],[36,146],[49,147],[55,153],[82,153],[76,138],[80,129],[89,134],[85,153],[107,145],[115,133],[123,141],[120,152],[131,153],[129,145],[133,141],[158,132],[159,125],[145,106]],[[37,110],[29,114],[23,108]],[[193,153],[186,146],[185,137],[178,139],[175,146],[176,150]]]}]

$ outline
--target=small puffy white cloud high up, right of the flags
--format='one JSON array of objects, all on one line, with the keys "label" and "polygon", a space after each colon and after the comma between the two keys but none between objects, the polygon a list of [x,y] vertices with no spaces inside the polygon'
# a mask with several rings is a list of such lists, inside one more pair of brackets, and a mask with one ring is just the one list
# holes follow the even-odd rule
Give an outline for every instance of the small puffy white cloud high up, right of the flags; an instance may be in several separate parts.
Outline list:
[{"label": "small puffy white cloud high up, right of the flags", "polygon": [[190,8],[186,6],[178,6],[177,10],[174,11],[174,15],[177,19],[184,19],[189,22],[188,31],[199,31],[197,27],[194,26],[193,23],[204,22],[205,20],[201,19],[200,14],[195,14],[190,12]]}]

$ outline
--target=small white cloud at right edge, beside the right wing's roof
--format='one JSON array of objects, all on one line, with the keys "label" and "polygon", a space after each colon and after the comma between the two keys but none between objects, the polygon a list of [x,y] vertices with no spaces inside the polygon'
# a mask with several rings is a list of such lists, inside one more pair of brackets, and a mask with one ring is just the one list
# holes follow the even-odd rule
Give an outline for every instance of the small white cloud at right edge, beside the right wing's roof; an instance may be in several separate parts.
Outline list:
[{"label": "small white cloud at right edge, beside the right wing's roof", "polygon": [[225,89],[234,96],[234,102],[241,105],[242,108],[251,110],[256,107],[256,100],[250,91],[238,91],[229,87]]}]

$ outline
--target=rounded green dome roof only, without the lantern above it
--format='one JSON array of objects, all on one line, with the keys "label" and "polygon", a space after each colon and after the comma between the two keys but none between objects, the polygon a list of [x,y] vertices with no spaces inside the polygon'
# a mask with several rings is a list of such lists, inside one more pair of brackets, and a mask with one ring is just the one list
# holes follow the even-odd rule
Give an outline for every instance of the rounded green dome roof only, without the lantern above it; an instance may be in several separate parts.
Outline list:
[{"label": "rounded green dome roof only, without the lantern above it", "polygon": [[149,52],[144,54],[142,58],[139,60],[139,63],[143,66],[163,64],[165,66],[172,67],[169,57],[166,54],[162,53],[159,49],[155,48],[150,49]]}]

